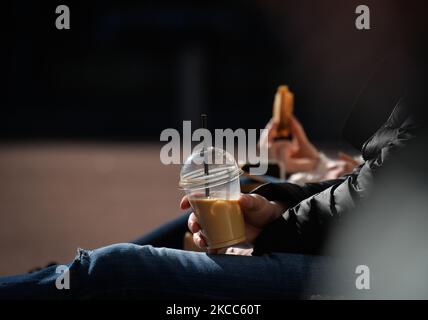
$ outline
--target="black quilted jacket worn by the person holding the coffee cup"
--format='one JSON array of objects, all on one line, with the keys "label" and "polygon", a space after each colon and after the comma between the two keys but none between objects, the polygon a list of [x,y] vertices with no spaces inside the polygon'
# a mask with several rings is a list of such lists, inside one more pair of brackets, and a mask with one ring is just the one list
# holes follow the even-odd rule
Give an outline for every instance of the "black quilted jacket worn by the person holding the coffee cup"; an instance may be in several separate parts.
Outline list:
[{"label": "black quilted jacket worn by the person holding the coffee cup", "polygon": [[321,253],[331,228],[340,225],[342,218],[370,195],[378,171],[415,137],[421,125],[409,105],[407,99],[396,103],[386,123],[362,146],[365,162],[352,174],[304,186],[269,183],[254,190],[290,208],[258,236],[254,254]]}]

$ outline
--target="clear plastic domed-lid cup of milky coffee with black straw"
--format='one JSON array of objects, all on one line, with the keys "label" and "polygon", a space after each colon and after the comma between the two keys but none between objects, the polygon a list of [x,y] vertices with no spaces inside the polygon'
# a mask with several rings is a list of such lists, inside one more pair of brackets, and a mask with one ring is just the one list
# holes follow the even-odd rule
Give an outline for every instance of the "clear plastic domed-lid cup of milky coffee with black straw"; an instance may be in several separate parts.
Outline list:
[{"label": "clear plastic domed-lid cup of milky coffee with black straw", "polygon": [[195,151],[181,169],[180,187],[189,198],[209,249],[245,241],[238,203],[241,174],[234,157],[214,147]]}]

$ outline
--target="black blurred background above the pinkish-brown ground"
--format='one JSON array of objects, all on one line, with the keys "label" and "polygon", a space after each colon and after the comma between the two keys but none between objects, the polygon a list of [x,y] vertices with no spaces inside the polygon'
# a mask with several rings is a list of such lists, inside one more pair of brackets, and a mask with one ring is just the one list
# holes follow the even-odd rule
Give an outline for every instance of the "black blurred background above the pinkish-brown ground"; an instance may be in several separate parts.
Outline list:
[{"label": "black blurred background above the pinkish-brown ground", "polygon": [[[310,138],[339,142],[373,67],[405,46],[403,3],[6,2],[0,138],[158,141],[201,112],[262,128],[284,83]],[[71,30],[55,28],[60,4]],[[371,30],[355,28],[359,4]]]}]

